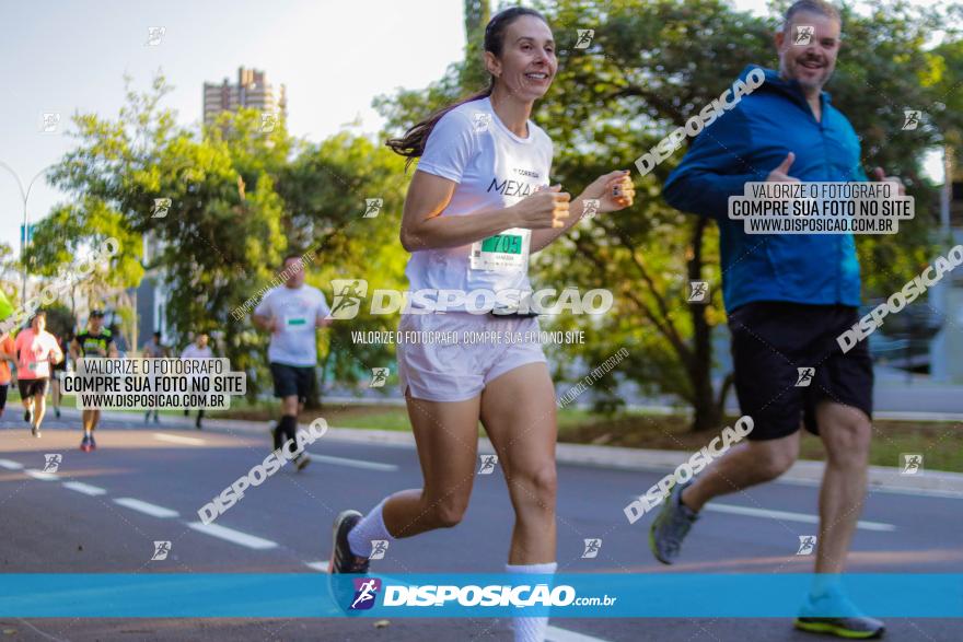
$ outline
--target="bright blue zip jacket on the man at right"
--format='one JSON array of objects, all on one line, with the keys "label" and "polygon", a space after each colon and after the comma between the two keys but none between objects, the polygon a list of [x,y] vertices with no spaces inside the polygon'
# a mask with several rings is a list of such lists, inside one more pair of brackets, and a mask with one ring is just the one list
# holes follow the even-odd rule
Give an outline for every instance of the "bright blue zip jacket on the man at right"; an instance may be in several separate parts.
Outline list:
[{"label": "bright blue zip jacket on the man at right", "polygon": [[859,139],[829,94],[820,98],[817,122],[796,81],[765,72],[762,85],[696,137],[665,182],[665,200],[718,223],[727,312],[753,301],[858,306],[852,234],[746,234],[742,221],[728,217],[729,197],[742,195],[746,182],[765,180],[790,151],[796,161],[788,174],[803,183],[867,180]]}]

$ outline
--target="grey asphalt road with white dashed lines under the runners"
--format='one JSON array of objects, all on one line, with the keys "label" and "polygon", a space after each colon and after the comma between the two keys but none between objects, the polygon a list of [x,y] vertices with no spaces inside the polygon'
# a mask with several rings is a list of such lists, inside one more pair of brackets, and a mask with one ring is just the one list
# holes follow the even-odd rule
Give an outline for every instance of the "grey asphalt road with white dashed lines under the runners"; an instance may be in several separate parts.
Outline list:
[{"label": "grey asphalt road with white dashed lines under the runners", "polygon": [[[68,418],[69,417],[69,418]],[[367,510],[385,494],[420,485],[415,452],[324,437],[303,472],[281,469],[250,490],[217,524],[198,530],[197,510],[264,459],[264,433],[195,431],[107,421],[95,453],[78,450],[76,412],[31,437],[14,405],[0,419],[0,572],[144,573],[320,572],[330,523],[345,507]],[[62,455],[43,479],[45,454]],[[805,572],[799,536],[815,533],[816,490],[770,483],[720,499],[666,568],[648,551],[649,516],[634,525],[622,507],[658,479],[652,472],[559,467],[558,563],[561,572]],[[118,503],[119,502],[119,503]],[[875,491],[868,499],[849,569],[856,572],[963,572],[963,500]],[[781,511],[773,514],[768,511]],[[746,513],[747,512],[747,513]],[[395,541],[379,572],[501,572],[512,516],[500,475],[478,476],[464,522],[451,530]],[[227,537],[227,539],[225,539]],[[595,559],[582,540],[602,538]],[[154,540],[172,542],[151,561]],[[751,599],[751,596],[747,596]],[[782,619],[553,620],[559,642],[805,641]],[[889,640],[956,642],[960,622],[893,619]],[[582,635],[582,637],[580,637]],[[508,620],[396,618],[378,628],[347,619],[16,619],[0,618],[11,640],[510,640]]]}]

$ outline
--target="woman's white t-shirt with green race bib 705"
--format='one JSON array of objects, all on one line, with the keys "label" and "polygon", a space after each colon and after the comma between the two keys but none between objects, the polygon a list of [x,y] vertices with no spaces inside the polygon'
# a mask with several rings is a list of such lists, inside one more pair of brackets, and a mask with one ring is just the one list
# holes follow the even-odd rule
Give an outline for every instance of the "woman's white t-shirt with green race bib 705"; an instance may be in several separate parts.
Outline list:
[{"label": "woman's white t-shirt with green race bib 705", "polygon": [[[489,98],[442,116],[418,163],[419,171],[459,184],[442,217],[504,209],[549,185],[552,140],[527,122],[529,138],[515,136],[498,119]],[[415,252],[405,275],[411,291],[527,291],[531,237],[531,230],[515,227],[461,247]],[[418,305],[416,299],[413,305]]]}]

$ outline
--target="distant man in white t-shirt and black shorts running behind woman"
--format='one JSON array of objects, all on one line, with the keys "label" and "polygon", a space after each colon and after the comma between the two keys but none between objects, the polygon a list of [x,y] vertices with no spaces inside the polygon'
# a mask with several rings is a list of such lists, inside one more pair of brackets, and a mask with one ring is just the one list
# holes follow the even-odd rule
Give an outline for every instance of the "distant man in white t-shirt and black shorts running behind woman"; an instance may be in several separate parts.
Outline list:
[{"label": "distant man in white t-shirt and black shorts running behind woman", "polygon": [[[254,308],[254,323],[271,332],[267,349],[275,397],[281,400],[281,419],[272,429],[277,451],[298,432],[298,415],[304,409],[311,380],[317,366],[317,328],[330,325],[330,313],[324,294],[317,288],[304,284],[302,255],[285,257],[285,284],[270,290]],[[294,447],[291,447],[294,452]],[[302,470],[311,458],[299,453],[293,459]]]}]

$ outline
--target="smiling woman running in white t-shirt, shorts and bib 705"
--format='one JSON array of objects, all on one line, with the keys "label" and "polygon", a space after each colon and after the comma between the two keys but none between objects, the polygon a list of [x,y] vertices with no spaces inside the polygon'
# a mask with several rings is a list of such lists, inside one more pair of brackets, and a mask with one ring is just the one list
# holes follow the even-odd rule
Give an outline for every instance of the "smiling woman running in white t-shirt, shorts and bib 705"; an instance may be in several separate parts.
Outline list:
[{"label": "smiling woman running in white t-shirt, shorts and bib 705", "polygon": [[[529,119],[557,69],[552,30],[539,13],[512,8],[494,16],[485,30],[485,61],[491,75],[486,92],[388,141],[399,154],[421,159],[401,231],[411,253],[406,272],[413,292],[529,290],[531,254],[587,209],[602,213],[633,203],[628,171],[601,176],[571,202],[560,186],[548,187],[552,141]],[[411,312],[422,314],[404,315],[399,332],[538,329],[535,318],[519,314],[471,314],[478,310],[468,305],[424,314],[427,305],[411,301]],[[332,573],[367,573],[373,540],[391,542],[461,521],[478,465],[479,420],[515,513],[507,570],[555,572],[556,402],[541,346],[406,341],[397,354],[425,486],[386,498],[364,517],[357,511],[338,515]],[[514,625],[517,641],[541,641],[547,618],[517,618]]]}]

